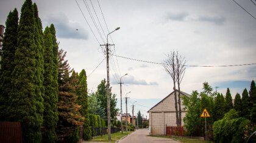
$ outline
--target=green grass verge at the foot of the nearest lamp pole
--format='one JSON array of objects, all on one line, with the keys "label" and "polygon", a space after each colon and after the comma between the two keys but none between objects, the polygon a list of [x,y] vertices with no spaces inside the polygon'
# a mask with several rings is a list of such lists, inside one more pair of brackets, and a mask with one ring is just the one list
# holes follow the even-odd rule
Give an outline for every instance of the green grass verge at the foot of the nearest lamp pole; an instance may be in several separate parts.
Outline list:
[{"label": "green grass verge at the foot of the nearest lamp pole", "polygon": [[116,142],[116,141],[118,141],[118,139],[121,139],[124,136],[129,135],[129,133],[132,133],[132,131],[124,131],[123,134],[121,132],[112,133],[111,141],[108,141],[108,135],[97,136],[97,137],[91,139],[91,141],[92,142]]}]

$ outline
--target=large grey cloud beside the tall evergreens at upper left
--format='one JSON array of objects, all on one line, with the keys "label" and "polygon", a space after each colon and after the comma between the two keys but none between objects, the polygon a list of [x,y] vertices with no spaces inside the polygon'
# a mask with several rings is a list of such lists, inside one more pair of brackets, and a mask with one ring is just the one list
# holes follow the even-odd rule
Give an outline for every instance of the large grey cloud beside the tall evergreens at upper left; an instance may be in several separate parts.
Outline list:
[{"label": "large grey cloud beside the tall evergreens at upper left", "polygon": [[58,15],[50,15],[46,20],[47,24],[54,24],[56,34],[59,38],[67,39],[88,39],[88,32],[77,22],[69,21],[68,17],[59,13]]}]

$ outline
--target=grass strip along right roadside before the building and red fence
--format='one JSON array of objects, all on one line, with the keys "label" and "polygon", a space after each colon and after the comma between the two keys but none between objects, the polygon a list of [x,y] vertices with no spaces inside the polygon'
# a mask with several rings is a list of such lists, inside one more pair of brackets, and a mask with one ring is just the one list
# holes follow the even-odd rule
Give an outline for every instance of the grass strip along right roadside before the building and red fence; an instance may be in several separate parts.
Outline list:
[{"label": "grass strip along right roadside before the building and red fence", "polygon": [[[184,138],[184,137],[179,137],[179,136],[153,136],[153,137],[169,138],[169,139],[173,139],[175,141],[185,142],[185,143],[205,143],[205,141],[202,139],[191,139],[191,138]],[[213,141],[207,141],[207,142],[213,142]]]}]

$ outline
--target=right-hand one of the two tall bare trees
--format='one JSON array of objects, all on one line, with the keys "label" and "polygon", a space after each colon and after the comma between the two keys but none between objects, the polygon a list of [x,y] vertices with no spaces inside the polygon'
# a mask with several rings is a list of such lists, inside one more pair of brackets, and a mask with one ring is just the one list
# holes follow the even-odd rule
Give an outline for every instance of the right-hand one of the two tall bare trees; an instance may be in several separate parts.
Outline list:
[{"label": "right-hand one of the two tall bare trees", "polygon": [[176,52],[176,82],[178,85],[178,104],[179,104],[179,125],[182,125],[182,108],[181,108],[181,102],[180,102],[180,83],[182,82],[182,79],[185,75],[185,58],[182,58],[181,55],[179,55],[179,52]]}]

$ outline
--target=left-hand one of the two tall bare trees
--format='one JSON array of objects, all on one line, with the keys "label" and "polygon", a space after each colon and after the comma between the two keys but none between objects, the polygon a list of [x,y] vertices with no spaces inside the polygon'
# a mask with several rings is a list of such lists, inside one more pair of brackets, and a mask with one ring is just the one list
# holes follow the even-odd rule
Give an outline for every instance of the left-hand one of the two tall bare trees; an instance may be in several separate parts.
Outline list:
[{"label": "left-hand one of the two tall bare trees", "polygon": [[171,76],[173,81],[173,90],[174,90],[174,100],[175,100],[175,110],[176,110],[176,124],[179,125],[179,115],[178,115],[178,107],[177,107],[177,93],[176,93],[176,56],[175,52],[169,53],[167,56],[167,59],[163,61],[163,67],[165,68],[165,71]]}]

